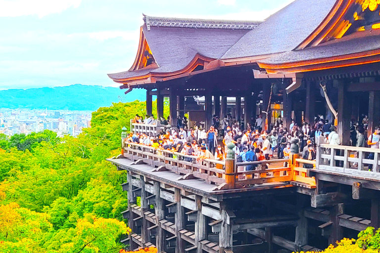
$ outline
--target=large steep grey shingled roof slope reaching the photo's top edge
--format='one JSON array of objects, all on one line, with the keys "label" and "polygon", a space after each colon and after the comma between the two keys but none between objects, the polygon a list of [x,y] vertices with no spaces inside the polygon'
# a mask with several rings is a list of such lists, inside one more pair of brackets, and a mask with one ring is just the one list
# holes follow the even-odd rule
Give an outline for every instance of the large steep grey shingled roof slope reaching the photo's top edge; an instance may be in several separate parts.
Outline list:
[{"label": "large steep grey shingled roof slope reaching the photo's top edge", "polygon": [[231,59],[290,51],[326,18],[336,0],[295,0],[249,31],[222,57]]}]

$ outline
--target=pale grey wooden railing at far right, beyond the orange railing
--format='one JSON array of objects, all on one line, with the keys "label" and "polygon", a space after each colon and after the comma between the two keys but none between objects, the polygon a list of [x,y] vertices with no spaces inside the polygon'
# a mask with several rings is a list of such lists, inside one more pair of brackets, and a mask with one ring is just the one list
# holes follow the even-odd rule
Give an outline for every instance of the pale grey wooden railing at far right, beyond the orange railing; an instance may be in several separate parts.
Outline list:
[{"label": "pale grey wooden railing at far right, beyond the orange railing", "polygon": [[380,149],[320,144],[316,168],[379,178],[379,159]]}]

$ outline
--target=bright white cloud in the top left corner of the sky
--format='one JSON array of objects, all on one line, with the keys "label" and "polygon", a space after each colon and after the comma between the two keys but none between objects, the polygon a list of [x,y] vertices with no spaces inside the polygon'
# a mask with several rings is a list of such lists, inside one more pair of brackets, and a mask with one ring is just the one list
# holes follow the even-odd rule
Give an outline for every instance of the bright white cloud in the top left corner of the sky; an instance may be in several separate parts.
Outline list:
[{"label": "bright white cloud in the top left corner of the sky", "polygon": [[71,6],[77,8],[81,0],[0,0],[0,17],[37,14],[40,17],[58,13]]}]

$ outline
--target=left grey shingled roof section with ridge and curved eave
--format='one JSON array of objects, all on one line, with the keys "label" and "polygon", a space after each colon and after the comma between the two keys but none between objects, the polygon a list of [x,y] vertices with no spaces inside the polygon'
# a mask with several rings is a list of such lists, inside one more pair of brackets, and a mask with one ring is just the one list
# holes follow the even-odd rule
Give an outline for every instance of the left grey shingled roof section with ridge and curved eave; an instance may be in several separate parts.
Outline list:
[{"label": "left grey shingled roof section with ridge and curved eave", "polygon": [[[196,54],[219,59],[260,21],[176,19],[144,16],[142,32],[158,67],[108,74],[126,79],[149,73],[170,73],[184,69]],[[201,27],[201,28],[199,28]]]}]

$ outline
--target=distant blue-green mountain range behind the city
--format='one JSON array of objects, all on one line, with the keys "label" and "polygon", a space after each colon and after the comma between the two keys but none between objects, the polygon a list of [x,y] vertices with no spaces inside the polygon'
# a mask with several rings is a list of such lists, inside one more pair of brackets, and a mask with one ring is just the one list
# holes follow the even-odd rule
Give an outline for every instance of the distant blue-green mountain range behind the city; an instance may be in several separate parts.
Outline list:
[{"label": "distant blue-green mountain range behind the city", "polygon": [[128,94],[118,87],[74,84],[62,87],[0,90],[0,108],[95,111],[112,102],[145,101],[144,89]]}]

